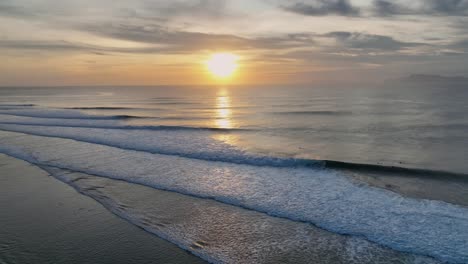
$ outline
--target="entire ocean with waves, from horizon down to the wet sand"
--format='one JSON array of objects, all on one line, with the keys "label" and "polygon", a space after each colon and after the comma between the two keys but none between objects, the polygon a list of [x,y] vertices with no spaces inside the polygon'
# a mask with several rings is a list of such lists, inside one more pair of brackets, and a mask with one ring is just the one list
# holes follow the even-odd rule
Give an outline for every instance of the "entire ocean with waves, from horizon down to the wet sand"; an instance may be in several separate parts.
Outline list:
[{"label": "entire ocean with waves, from horizon down to the wet sand", "polygon": [[0,88],[0,153],[212,263],[468,263],[462,87]]}]

